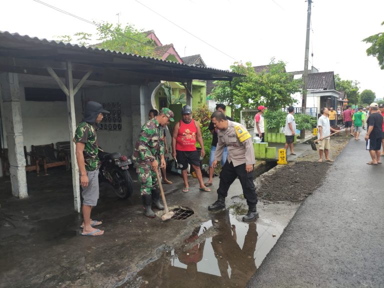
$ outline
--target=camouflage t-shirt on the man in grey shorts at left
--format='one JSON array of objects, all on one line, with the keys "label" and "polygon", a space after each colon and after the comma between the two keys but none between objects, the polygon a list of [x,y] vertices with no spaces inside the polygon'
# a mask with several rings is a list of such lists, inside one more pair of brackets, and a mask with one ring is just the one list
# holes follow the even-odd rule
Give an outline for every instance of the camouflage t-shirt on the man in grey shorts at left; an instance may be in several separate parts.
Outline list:
[{"label": "camouflage t-shirt on the man in grey shorts at left", "polygon": [[99,166],[97,136],[94,126],[87,122],[80,122],[74,132],[75,143],[85,143],[84,155],[85,170],[94,171]]}]

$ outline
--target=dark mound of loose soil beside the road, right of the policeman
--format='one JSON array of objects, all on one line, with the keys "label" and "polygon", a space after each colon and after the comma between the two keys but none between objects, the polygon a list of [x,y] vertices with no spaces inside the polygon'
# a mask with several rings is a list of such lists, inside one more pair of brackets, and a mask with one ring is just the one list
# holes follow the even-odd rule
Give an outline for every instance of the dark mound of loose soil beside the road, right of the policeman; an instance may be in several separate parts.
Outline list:
[{"label": "dark mound of loose soil beside the road, right of the policeman", "polygon": [[298,161],[284,165],[275,173],[266,173],[256,185],[257,196],[271,202],[300,202],[321,184],[328,163]]}]

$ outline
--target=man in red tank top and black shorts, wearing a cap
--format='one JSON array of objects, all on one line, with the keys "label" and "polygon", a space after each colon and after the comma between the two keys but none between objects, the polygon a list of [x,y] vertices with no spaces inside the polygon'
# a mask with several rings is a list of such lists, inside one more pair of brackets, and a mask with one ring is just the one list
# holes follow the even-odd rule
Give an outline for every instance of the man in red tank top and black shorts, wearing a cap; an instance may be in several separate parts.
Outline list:
[{"label": "man in red tank top and black shorts, wearing a cap", "polygon": [[196,139],[201,146],[201,157],[204,157],[204,143],[202,141],[200,123],[191,117],[191,108],[189,105],[182,107],[180,120],[173,128],[172,132],[172,157],[177,159],[177,163],[181,168],[182,179],[184,180],[183,192],[189,191],[188,174],[186,169],[188,163],[193,167],[201,191],[209,192],[210,189],[204,185],[200,170],[200,155],[196,149]]}]

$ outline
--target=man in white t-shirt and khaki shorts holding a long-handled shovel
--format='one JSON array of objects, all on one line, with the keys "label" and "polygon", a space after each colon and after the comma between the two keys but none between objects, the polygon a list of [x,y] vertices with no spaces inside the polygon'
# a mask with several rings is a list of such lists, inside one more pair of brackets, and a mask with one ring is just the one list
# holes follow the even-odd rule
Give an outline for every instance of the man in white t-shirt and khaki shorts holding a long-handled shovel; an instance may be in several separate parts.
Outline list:
[{"label": "man in white t-shirt and khaki shorts holding a long-handled shovel", "polygon": [[328,108],[321,108],[320,113],[321,116],[317,120],[317,139],[320,139],[320,141],[318,141],[318,153],[320,155],[318,161],[322,162],[322,154],[324,153],[325,161],[333,162],[333,160],[329,158],[330,140],[329,137],[325,137],[330,135],[330,131],[340,132],[340,130],[335,130],[330,126],[328,119]]}]

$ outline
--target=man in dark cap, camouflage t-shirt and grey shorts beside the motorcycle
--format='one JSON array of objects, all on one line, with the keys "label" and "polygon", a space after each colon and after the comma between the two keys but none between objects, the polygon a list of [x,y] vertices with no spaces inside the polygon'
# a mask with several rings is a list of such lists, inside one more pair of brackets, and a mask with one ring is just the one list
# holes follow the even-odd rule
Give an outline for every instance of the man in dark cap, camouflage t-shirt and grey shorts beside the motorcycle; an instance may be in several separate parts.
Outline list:
[{"label": "man in dark cap, camouflage t-shirt and grey shorts beside the motorcycle", "polygon": [[80,185],[82,187],[82,217],[81,235],[102,235],[104,230],[93,228],[101,221],[92,220],[90,212],[97,204],[98,199],[98,144],[96,125],[102,120],[102,113],[109,113],[100,103],[88,101],[84,110],[84,118],[77,125],[73,141],[76,143],[76,158],[80,172]]}]

